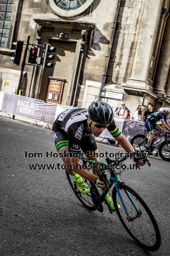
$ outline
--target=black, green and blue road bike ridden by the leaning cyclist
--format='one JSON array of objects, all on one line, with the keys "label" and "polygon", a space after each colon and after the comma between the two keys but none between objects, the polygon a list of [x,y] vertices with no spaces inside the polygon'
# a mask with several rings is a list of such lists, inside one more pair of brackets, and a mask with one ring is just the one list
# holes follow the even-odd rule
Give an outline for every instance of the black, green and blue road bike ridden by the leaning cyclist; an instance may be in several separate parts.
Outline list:
[{"label": "black, green and blue road bike ridden by the leaning cyclist", "polygon": [[[110,213],[114,212],[105,199],[106,194],[114,185],[112,190],[113,203],[123,226],[139,246],[145,250],[156,251],[161,245],[161,234],[156,219],[144,200],[133,189],[125,185],[125,183],[119,179],[118,173],[115,171],[115,166],[122,163],[127,158],[128,156],[122,157],[119,160],[106,158],[107,163],[88,160],[86,158],[83,159],[83,164],[87,165],[88,163],[90,169],[93,163],[100,165],[101,169],[98,170],[97,174],[100,180],[105,182],[105,189],[103,189],[102,194],[94,183],[86,179],[84,179],[84,181],[90,187],[90,192],[82,194],[79,192],[73,177],[67,172],[66,175],[79,201],[91,211],[98,210],[99,212],[103,212],[102,203],[105,202]],[[109,179],[106,176],[106,170],[111,174]],[[120,209],[118,209],[117,204],[121,205]]]}]

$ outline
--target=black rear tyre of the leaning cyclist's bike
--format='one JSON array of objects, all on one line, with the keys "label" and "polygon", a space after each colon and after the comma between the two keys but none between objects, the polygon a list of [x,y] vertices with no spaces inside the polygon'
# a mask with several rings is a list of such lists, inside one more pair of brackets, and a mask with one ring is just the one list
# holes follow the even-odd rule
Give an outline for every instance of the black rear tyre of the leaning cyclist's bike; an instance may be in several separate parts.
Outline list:
[{"label": "black rear tyre of the leaning cyclist's bike", "polygon": [[[96,209],[98,209],[100,212],[103,211],[103,207],[102,207],[102,204],[99,204],[98,208],[95,207],[95,203],[94,203],[94,199],[93,197],[90,197],[86,194],[83,194],[81,192],[79,192],[79,190],[76,188],[76,185],[73,181],[71,181],[71,175],[68,174],[68,172],[66,172],[66,176],[68,178],[68,182],[71,186],[71,189],[73,190],[74,194],[77,196],[77,198],[79,199],[79,201],[82,203],[82,205],[84,207],[86,207],[88,210],[91,210],[91,211],[95,211]],[[99,195],[99,191],[97,190],[96,186],[94,183],[91,183],[89,182],[90,186],[91,186],[91,190],[93,190],[93,193],[94,191],[96,192],[96,195]],[[86,199],[84,199],[86,198]],[[90,200],[90,202],[89,202]]]}]

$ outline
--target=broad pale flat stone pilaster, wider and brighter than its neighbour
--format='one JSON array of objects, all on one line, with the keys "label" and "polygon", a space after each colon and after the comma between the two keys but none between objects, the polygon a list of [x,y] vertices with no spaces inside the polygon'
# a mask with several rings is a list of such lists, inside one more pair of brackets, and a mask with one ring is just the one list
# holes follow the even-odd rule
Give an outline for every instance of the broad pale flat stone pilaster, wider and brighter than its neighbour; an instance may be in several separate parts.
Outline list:
[{"label": "broad pale flat stone pilaster, wider and brighter than its neighbour", "polygon": [[140,87],[141,89],[149,90],[147,77],[153,53],[154,35],[156,35],[161,15],[162,2],[162,0],[146,1],[132,73],[130,80],[127,81],[127,87]]}]

